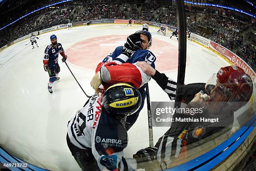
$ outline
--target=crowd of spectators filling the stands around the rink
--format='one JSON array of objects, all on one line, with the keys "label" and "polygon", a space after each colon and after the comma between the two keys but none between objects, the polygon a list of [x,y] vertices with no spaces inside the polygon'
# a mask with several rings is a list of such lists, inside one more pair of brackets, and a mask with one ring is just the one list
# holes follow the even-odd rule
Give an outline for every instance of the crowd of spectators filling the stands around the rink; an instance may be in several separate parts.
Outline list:
[{"label": "crowd of spectators filling the stands around the rink", "polygon": [[[128,0],[118,2],[105,0],[105,3],[99,1],[87,0],[63,3],[56,5],[55,8],[45,8],[28,15],[28,17],[0,31],[0,47],[33,31],[69,22],[132,18],[133,20],[146,20],[177,27],[177,10],[166,3],[160,4],[157,0],[154,0],[151,3],[142,4],[132,3],[133,0],[131,0],[131,6],[123,8],[122,2],[128,4]],[[13,0],[11,2],[14,6],[22,3],[22,1]],[[5,6],[1,6],[1,8],[3,7]],[[217,8],[185,6],[185,10],[187,26],[190,31],[209,38],[235,52],[255,70],[255,42],[245,40],[243,35],[251,26],[255,29],[255,25],[250,24],[248,18],[228,11],[223,13]],[[212,29],[212,31],[202,29],[206,27]]]}]

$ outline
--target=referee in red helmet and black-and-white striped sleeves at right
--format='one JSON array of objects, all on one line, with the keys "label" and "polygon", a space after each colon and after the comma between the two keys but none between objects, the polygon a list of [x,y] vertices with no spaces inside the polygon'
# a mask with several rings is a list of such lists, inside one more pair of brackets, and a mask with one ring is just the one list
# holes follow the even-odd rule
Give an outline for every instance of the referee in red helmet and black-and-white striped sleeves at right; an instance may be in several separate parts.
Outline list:
[{"label": "referee in red helmet and black-and-white striped sleeves at right", "polygon": [[[174,80],[144,62],[140,62],[138,66],[143,69],[144,73],[151,75],[151,78],[168,93],[171,100],[175,99],[177,83]],[[182,101],[187,104],[187,107],[199,104],[205,108],[201,114],[175,113],[172,118],[218,118],[218,122],[173,122],[154,147],[141,149],[133,155],[138,164],[137,168],[152,168],[153,165],[150,163],[141,164],[147,161],[154,161],[151,163],[158,164],[173,162],[175,158],[179,159],[183,148],[189,148],[189,144],[197,140],[215,133],[227,133],[228,135],[228,130],[233,126],[234,112],[248,103],[252,92],[252,79],[237,66],[220,68],[206,84],[194,83],[180,87]]]}]

